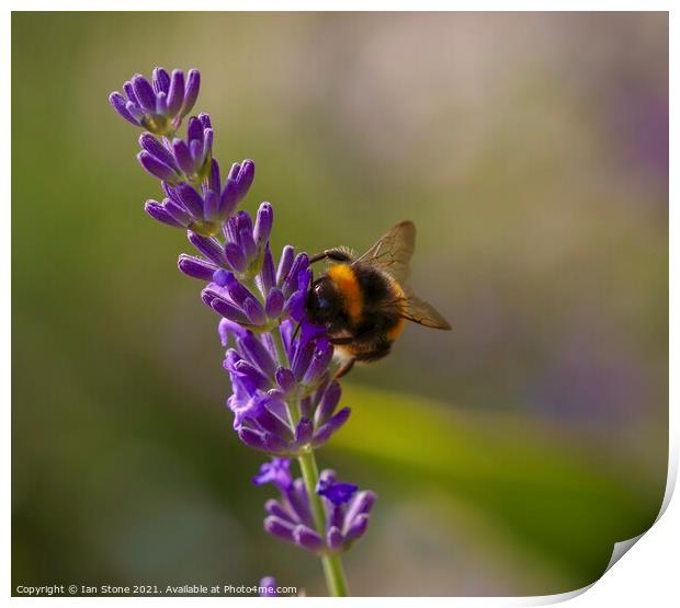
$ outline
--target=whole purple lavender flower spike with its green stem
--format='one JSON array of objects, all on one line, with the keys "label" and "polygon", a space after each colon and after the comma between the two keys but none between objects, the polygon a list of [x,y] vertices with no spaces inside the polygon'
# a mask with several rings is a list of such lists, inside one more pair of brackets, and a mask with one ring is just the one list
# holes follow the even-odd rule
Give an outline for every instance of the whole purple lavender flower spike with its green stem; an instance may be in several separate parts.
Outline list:
[{"label": "whole purple lavender flower spike with its green stem", "polygon": [[[260,205],[254,220],[237,210],[254,163],[236,162],[223,179],[207,114],[189,117],[186,135],[179,137],[200,83],[197,70],[185,79],[181,70],[156,68],[151,81],[136,74],[124,83],[125,94],[109,99],[123,118],[145,129],[137,159],[160,180],[165,195],[148,199],[146,213],[185,230],[196,250],[197,255],[182,253],[178,267],[203,283],[201,299],[220,317],[234,429],[246,446],[271,457],[253,482],[273,483],[280,492],[264,505],[264,529],[318,555],[329,593],[345,596],[341,554],[366,531],[375,494],[337,481],[333,471],[318,473],[315,450],[343,426],[350,409],[339,408],[326,329],[307,316],[309,259],[286,245],[275,261],[270,203]],[[291,474],[294,458],[302,478]]]}]

